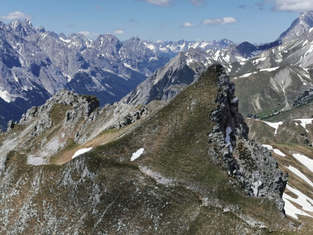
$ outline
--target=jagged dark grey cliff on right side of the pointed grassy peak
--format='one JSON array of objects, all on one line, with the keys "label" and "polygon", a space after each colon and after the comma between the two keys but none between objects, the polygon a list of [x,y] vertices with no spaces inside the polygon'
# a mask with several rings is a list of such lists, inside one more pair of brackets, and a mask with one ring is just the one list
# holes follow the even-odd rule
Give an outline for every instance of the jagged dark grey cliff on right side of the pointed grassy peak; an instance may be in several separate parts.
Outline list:
[{"label": "jagged dark grey cliff on right side of the pointed grassy peak", "polygon": [[283,210],[281,197],[288,174],[278,169],[268,149],[248,139],[249,128],[238,111],[239,100],[234,96],[234,83],[229,81],[221,65],[214,66],[219,73],[219,91],[215,101],[218,106],[211,113],[211,119],[217,125],[209,134],[209,142],[214,144],[209,151],[215,153],[213,156],[224,165],[228,175],[237,180],[246,195],[266,196],[275,200]]}]

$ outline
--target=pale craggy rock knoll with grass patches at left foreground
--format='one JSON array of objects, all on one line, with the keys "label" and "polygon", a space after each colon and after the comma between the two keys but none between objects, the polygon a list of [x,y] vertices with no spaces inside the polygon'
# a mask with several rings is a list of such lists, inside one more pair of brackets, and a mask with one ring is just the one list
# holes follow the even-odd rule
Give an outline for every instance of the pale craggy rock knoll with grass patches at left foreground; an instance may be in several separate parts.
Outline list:
[{"label": "pale craggy rock knoll with grass patches at left foreground", "polygon": [[19,134],[14,132],[14,123],[9,123],[8,133],[0,147],[0,172],[4,170],[5,156],[13,150],[25,152],[28,162],[39,159],[40,164],[49,163],[52,155],[66,147],[69,139],[75,141],[94,120],[98,107],[97,97],[77,95],[64,89],[44,105],[28,109],[15,124]]}]

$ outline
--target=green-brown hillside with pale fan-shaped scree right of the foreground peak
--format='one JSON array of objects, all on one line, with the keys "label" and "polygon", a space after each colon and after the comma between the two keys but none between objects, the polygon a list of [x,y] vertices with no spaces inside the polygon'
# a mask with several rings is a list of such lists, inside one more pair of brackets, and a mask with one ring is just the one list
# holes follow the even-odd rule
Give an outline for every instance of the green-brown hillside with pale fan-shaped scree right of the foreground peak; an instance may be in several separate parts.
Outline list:
[{"label": "green-brown hillside with pale fan-shaped scree right of the foreground peak", "polygon": [[[256,64],[255,61],[260,60],[255,58],[252,62]],[[311,69],[283,65],[231,76],[237,86],[236,95],[242,101],[239,110],[248,116],[264,118],[310,102],[312,73]]]}]

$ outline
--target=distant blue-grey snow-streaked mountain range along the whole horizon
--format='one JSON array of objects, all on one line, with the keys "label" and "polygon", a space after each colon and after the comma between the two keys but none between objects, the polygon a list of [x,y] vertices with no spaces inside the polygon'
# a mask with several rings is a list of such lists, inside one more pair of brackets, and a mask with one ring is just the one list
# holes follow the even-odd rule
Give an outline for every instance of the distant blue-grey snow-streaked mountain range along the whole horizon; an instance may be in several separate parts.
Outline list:
[{"label": "distant blue-grey snow-streaked mountain range along the whole horizon", "polygon": [[[222,63],[231,74],[244,72],[246,66],[234,71],[231,64],[242,63],[282,44],[296,35],[298,29],[308,33],[311,15],[312,12],[300,14],[285,36],[261,46],[249,42],[235,44],[228,39],[153,42],[132,37],[121,42],[110,34],[89,40],[83,34],[67,37],[43,27],[34,29],[27,19],[13,20],[10,24],[0,22],[0,108],[3,110],[0,128],[5,130],[9,120],[18,120],[28,108],[43,104],[63,88],[96,95],[100,106],[119,101],[147,77],[155,76],[153,73],[171,58],[190,48],[198,49],[198,57],[203,58],[201,63]],[[296,64],[296,60],[305,60],[303,65],[309,63],[300,57],[284,62],[290,60]],[[188,63],[192,64],[192,60]]]}]

